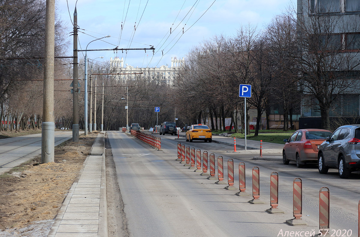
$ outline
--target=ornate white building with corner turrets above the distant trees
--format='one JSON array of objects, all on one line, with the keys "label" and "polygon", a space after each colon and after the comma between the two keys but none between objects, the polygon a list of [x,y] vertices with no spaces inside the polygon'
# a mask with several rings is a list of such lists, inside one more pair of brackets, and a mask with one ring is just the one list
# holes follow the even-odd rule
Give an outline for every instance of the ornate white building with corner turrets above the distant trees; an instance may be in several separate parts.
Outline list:
[{"label": "ornate white building with corner turrets above the distant trees", "polygon": [[[172,85],[176,76],[176,70],[183,67],[185,59],[177,59],[176,57],[171,58],[171,66],[168,67],[168,64],[162,65],[160,67],[133,67],[128,64],[125,64],[124,59],[115,57],[110,58],[110,65],[113,73],[143,73],[141,77],[159,80],[161,83]],[[125,83],[127,80],[135,79],[140,74],[126,74],[126,75],[116,75],[115,79],[121,80]]]}]

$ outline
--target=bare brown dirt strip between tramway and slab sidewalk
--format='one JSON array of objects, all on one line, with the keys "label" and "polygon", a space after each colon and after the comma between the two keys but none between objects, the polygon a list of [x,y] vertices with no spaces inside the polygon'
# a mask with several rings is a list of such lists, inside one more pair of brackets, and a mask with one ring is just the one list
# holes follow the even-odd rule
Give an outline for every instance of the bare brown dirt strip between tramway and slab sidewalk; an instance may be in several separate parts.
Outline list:
[{"label": "bare brown dirt strip between tramway and slab sidewalk", "polygon": [[56,146],[55,162],[40,164],[39,156],[0,175],[1,237],[47,235],[96,136]]}]

